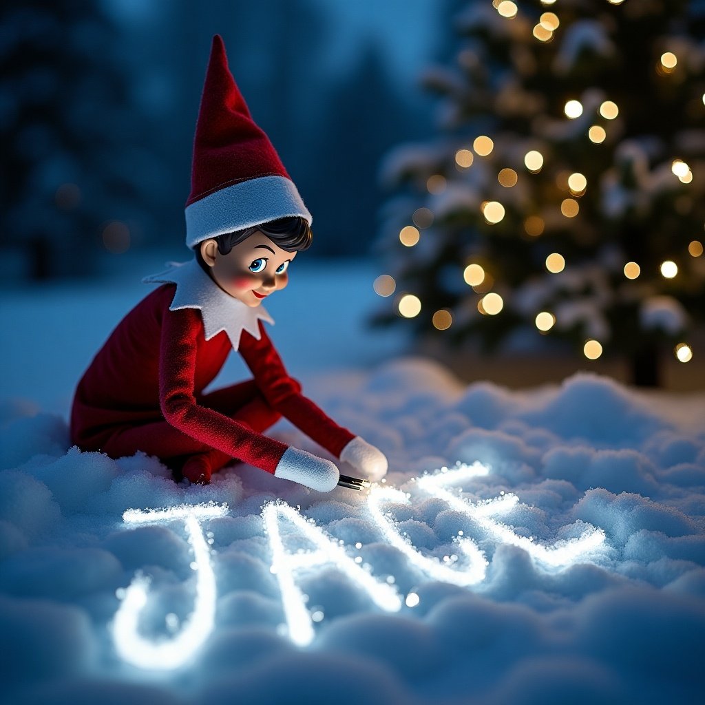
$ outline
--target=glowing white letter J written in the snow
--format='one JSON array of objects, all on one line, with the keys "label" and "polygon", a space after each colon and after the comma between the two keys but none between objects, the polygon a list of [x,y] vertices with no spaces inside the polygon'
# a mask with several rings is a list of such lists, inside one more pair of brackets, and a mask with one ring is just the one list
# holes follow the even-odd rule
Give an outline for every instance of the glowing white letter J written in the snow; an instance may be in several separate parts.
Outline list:
[{"label": "glowing white letter J written in the snow", "polygon": [[191,567],[196,573],[196,596],[193,611],[178,635],[163,641],[145,639],[139,632],[140,614],[147,605],[149,577],[137,575],[125,589],[113,622],[113,639],[118,654],[140,668],[169,670],[191,661],[215,625],[216,579],[210,560],[210,548],[200,520],[223,517],[228,505],[214,503],[182,505],[169,509],[129,509],[123,521],[129,525],[153,524],[181,520],[194,553]]}]

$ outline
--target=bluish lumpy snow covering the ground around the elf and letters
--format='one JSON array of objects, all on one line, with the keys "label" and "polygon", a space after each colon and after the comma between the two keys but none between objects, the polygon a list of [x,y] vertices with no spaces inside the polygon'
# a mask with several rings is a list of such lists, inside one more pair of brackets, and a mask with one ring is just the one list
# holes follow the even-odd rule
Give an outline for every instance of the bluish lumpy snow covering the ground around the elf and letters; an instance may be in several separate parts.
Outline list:
[{"label": "bluish lumpy snow covering the ground around the elf and letters", "polygon": [[[116,281],[4,296],[0,324],[17,333],[4,341],[0,407],[4,701],[700,701],[705,395],[642,396],[587,374],[525,392],[465,387],[434,363],[399,357],[403,341],[364,331],[371,274],[331,266],[298,288],[293,281],[281,313],[272,302],[272,336],[309,396],[387,453],[387,486],[409,494],[384,505],[393,528],[375,520],[369,496],[342,488],[317,494],[243,465],[208,487],[177,486],[154,458],[68,448],[73,384],[145,290]],[[345,297],[333,300],[329,291],[341,289]],[[291,310],[297,319],[286,321]],[[223,374],[238,375],[236,365]],[[315,450],[287,424],[274,433]],[[458,484],[465,502],[519,499],[494,524],[414,481],[476,460],[491,471]],[[262,520],[262,505],[276,498],[418,603],[387,613],[328,563],[297,574],[308,610],[324,618],[309,645],[295,646],[282,628],[282,570],[270,572],[272,532]],[[116,650],[121,589],[138,572],[151,576],[141,633],[173,639],[188,623],[198,571],[183,521],[130,527],[123,511],[208,501],[229,505],[226,516],[202,521],[214,549],[214,630],[185,666],[133,666]],[[278,526],[287,550],[314,548],[296,525]],[[534,546],[575,546],[591,527],[605,541],[551,567],[540,550],[514,545],[520,539],[498,539],[505,526]],[[406,553],[390,538],[402,532]],[[453,582],[470,575],[459,532],[487,560],[484,577],[466,585]],[[453,553],[459,560],[443,563]],[[454,571],[450,582],[434,580],[439,566]]]}]

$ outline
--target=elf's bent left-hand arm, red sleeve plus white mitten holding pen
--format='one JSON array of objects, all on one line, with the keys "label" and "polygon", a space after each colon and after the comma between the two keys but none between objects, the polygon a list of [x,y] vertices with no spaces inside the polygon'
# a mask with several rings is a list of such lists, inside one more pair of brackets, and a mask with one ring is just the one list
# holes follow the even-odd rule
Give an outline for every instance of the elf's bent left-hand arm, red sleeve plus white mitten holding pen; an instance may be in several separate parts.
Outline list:
[{"label": "elf's bent left-hand arm, red sleeve plus white mitten holding pen", "polygon": [[320,491],[333,489],[338,482],[338,469],[329,460],[289,448],[196,403],[196,341],[200,330],[200,312],[195,309],[164,313],[159,350],[159,403],[164,418],[193,439],[277,477]]}]

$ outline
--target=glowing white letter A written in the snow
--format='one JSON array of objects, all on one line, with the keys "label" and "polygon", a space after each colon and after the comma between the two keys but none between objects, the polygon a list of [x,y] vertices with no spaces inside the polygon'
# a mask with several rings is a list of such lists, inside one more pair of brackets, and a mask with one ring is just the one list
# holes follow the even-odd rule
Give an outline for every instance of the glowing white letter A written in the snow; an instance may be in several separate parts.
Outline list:
[{"label": "glowing white letter A written in the snow", "polygon": [[[402,602],[396,589],[375,580],[345,553],[343,546],[326,536],[314,522],[302,517],[298,510],[284,503],[269,503],[262,510],[262,519],[269,534],[272,553],[270,570],[279,583],[289,638],[298,646],[310,644],[315,632],[305,596],[294,580],[295,571],[332,563],[357,587],[367,592],[376,606],[387,612],[401,609]],[[280,532],[281,519],[288,520],[302,537],[316,546],[316,550],[301,553],[287,551]]]}]

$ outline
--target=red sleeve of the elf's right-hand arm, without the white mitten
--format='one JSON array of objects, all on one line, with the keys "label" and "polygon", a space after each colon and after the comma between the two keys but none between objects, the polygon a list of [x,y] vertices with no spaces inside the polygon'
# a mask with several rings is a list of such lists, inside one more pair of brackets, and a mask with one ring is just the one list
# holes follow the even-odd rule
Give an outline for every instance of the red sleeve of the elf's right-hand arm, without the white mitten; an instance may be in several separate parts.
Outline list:
[{"label": "red sleeve of the elf's right-hand arm, without the white mitten", "polygon": [[247,367],[252,370],[259,391],[269,405],[310,439],[339,458],[343,448],[355,435],[338,426],[319,406],[300,393],[301,385],[284,369],[281,358],[261,323],[259,333],[261,337],[257,340],[250,333],[243,331],[240,339],[240,353]]}]

